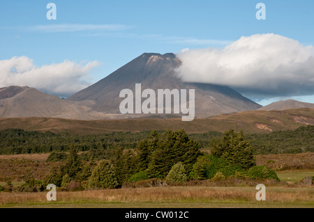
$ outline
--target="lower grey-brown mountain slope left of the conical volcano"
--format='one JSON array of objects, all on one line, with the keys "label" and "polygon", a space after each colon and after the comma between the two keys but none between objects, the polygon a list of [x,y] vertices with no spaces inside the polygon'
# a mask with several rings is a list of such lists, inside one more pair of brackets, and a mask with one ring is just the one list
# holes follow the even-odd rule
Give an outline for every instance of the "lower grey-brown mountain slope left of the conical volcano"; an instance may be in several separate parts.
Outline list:
[{"label": "lower grey-brown mountain slope left of the conical volcano", "polygon": [[70,119],[96,119],[98,113],[87,106],[47,95],[27,86],[0,88],[0,117],[59,117]]}]

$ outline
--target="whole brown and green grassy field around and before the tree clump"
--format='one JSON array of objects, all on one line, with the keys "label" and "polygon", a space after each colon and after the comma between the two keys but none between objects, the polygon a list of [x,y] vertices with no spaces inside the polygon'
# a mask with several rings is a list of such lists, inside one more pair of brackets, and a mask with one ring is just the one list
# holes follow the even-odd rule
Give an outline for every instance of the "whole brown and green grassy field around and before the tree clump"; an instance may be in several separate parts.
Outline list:
[{"label": "whole brown and green grassy field around and before the tree clump", "polygon": [[[257,165],[267,165],[274,160],[274,168],[284,165],[284,171],[276,171],[281,179],[279,184],[267,186],[266,201],[255,200],[255,185],[244,187],[214,187],[212,184],[193,185],[193,187],[149,187],[124,188],[97,191],[58,191],[57,201],[46,199],[47,191],[38,193],[0,192],[0,207],[311,207],[314,208],[314,185],[296,183],[308,175],[314,175],[313,168],[304,166],[313,160],[308,154],[269,154],[257,155]],[[50,166],[47,154],[18,154],[0,156],[1,177],[13,178],[13,186],[23,184],[22,177],[28,171],[41,179]],[[304,163],[306,163],[304,165]],[[268,164],[269,165],[269,164]],[[269,165],[271,166],[271,165]],[[298,169],[299,168],[299,169]],[[303,169],[302,169],[303,168]],[[15,178],[15,180],[14,180]],[[16,180],[19,179],[19,180]],[[1,180],[0,185],[6,182]],[[190,186],[190,185],[187,185]],[[240,185],[242,186],[242,185]]]}]

